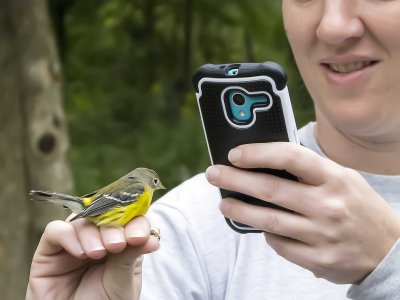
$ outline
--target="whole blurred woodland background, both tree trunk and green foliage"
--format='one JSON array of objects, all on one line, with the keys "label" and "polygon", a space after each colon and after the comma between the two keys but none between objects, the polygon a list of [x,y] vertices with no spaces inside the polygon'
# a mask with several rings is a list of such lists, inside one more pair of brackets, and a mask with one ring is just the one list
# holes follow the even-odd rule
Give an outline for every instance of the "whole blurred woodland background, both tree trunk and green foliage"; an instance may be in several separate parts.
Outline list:
[{"label": "whole blurred woodland background, both tree trunk and green foliage", "polygon": [[298,127],[313,118],[280,2],[0,0],[1,299],[25,297],[44,227],[67,215],[31,189],[80,195],[138,166],[171,189],[206,169],[200,65],[276,61]]}]

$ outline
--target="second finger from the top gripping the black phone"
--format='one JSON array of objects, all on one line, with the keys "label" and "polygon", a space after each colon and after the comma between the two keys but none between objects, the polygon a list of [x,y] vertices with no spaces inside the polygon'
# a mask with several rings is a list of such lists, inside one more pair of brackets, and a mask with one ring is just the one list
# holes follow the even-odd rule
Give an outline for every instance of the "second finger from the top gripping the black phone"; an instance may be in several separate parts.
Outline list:
[{"label": "second finger from the top gripping the black phone", "polygon": [[209,167],[206,176],[211,184],[220,188],[249,195],[300,214],[312,213],[313,186],[223,165]]}]

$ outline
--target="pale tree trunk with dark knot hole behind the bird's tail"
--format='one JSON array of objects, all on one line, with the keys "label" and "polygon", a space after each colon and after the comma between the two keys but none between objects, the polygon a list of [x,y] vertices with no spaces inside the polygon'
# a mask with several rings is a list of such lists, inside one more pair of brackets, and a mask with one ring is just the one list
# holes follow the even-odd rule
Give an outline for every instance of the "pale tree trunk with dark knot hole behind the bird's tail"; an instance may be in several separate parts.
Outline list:
[{"label": "pale tree trunk with dark knot hole behind the bird's tail", "polygon": [[71,192],[62,75],[45,0],[0,0],[0,291],[25,297],[30,261],[58,207],[31,189]]}]

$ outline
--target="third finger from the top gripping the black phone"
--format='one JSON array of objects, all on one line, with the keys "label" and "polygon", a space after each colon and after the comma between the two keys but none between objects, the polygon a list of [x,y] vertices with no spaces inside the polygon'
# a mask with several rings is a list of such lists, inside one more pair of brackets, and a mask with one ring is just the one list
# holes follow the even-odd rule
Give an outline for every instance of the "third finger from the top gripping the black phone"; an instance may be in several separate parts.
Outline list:
[{"label": "third finger from the top gripping the black phone", "polygon": [[285,237],[311,243],[315,226],[302,215],[279,209],[250,205],[236,199],[224,199],[220,209],[225,217],[242,224]]}]

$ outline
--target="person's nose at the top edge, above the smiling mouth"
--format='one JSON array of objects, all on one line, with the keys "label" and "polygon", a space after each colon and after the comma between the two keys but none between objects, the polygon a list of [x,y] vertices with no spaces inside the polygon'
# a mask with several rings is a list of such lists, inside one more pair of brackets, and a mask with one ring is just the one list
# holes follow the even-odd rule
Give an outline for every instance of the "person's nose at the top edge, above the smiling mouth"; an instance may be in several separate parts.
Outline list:
[{"label": "person's nose at the top edge, above the smiling mouth", "polygon": [[323,1],[317,37],[329,45],[341,45],[346,41],[360,38],[364,24],[358,13],[357,0]]}]

